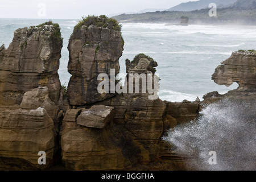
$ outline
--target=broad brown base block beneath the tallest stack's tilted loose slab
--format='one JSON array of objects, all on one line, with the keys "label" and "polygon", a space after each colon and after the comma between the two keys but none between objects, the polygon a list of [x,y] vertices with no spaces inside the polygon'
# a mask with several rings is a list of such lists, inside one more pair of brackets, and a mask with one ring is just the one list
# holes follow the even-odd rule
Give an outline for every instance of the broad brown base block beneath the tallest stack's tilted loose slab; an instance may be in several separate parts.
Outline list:
[{"label": "broad brown base block beneath the tallest stack's tilted loose slab", "polygon": [[[109,110],[106,109],[107,106],[93,107],[92,111],[95,111],[95,108]],[[65,168],[71,170],[113,170],[124,169],[129,166],[129,160],[125,159],[122,154],[121,146],[123,144],[119,143],[120,138],[112,128],[112,119],[102,129],[97,128],[97,121],[94,121],[94,128],[77,123],[79,119],[86,118],[86,111],[88,110],[90,109],[68,110],[63,119],[63,129],[60,134],[61,156]],[[96,110],[98,111],[98,109]],[[113,111],[113,108],[111,110]],[[83,111],[85,111],[85,116],[82,115]],[[111,115],[113,115],[112,113],[110,112]],[[92,121],[89,124],[91,125]]]}]

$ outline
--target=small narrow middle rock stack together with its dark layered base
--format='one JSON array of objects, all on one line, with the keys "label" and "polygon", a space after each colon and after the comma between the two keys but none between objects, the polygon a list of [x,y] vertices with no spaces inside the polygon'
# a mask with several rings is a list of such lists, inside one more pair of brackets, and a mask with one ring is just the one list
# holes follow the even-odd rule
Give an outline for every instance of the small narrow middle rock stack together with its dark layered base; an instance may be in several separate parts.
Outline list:
[{"label": "small narrow middle rock stack together with its dark layered base", "polygon": [[[140,54],[133,61],[126,60],[126,83],[123,92],[101,104],[113,106],[115,109],[114,125],[115,133],[123,137],[123,155],[131,164],[147,164],[160,155],[159,141],[165,130],[175,125],[175,119],[165,117],[166,105],[158,98],[158,79],[154,79],[155,68],[158,64],[151,57]],[[146,80],[152,79],[152,89],[155,93],[143,93],[142,85],[145,81],[133,80],[130,76],[144,75]],[[142,75],[141,75],[142,74]],[[149,77],[147,74],[150,74]],[[157,82],[155,82],[157,81]],[[147,85],[149,87],[149,85]],[[147,89],[148,89],[147,87]],[[133,92],[129,92],[133,88]],[[136,93],[136,88],[139,92]],[[156,95],[157,97],[152,97]]]}]

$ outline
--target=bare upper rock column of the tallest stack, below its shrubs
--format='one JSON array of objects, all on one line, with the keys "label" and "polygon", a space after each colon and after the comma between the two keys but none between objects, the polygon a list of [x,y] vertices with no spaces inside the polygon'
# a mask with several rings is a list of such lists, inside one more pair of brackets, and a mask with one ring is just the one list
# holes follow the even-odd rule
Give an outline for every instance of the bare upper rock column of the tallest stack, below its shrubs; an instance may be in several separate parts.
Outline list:
[{"label": "bare upper rock column of the tallest stack, below its shrubs", "polygon": [[68,72],[72,77],[68,84],[69,102],[82,106],[113,97],[113,93],[98,93],[100,73],[110,77],[110,69],[119,73],[119,57],[122,56],[121,31],[97,26],[75,28],[68,44]]}]

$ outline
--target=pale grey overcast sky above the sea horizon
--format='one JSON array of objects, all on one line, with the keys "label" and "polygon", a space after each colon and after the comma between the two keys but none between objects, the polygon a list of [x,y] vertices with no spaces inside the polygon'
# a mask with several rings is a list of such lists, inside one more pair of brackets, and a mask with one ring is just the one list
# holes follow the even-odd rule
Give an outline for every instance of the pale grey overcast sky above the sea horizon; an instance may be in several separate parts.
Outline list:
[{"label": "pale grey overcast sky above the sea horizon", "polygon": [[[0,0],[0,18],[80,19],[87,15],[170,9],[189,0]],[[193,0],[190,0],[193,1]],[[196,0],[194,0],[196,1]]]}]

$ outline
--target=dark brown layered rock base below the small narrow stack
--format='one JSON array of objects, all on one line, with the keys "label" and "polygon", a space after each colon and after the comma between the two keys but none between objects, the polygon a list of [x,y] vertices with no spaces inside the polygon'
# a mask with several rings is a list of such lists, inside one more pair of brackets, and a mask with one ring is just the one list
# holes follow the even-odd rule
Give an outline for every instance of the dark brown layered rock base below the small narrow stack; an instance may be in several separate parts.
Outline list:
[{"label": "dark brown layered rock base below the small narrow stack", "polygon": [[123,152],[131,163],[148,163],[159,155],[165,122],[168,126],[171,122],[163,119],[166,105],[162,100],[148,100],[147,94],[123,94],[101,104],[115,108],[114,127],[125,137]]}]

